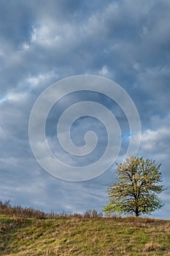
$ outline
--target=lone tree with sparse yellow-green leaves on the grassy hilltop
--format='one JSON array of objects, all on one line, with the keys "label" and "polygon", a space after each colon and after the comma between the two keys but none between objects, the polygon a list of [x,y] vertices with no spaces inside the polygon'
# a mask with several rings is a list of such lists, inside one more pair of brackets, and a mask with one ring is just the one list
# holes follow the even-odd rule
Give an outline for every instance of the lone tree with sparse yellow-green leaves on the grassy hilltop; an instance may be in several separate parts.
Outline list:
[{"label": "lone tree with sparse yellow-green leaves on the grassy hilltop", "polygon": [[117,165],[117,183],[107,189],[109,203],[104,207],[106,213],[150,214],[163,206],[158,198],[162,192],[162,174],[155,160],[131,156],[123,164]]}]

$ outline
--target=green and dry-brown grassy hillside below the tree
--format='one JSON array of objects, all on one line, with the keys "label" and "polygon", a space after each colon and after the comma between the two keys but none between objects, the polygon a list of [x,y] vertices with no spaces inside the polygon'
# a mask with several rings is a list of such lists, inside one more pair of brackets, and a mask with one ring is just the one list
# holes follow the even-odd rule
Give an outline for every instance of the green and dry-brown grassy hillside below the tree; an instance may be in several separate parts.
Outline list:
[{"label": "green and dry-brown grassy hillside below the tree", "polygon": [[1,215],[0,255],[170,255],[170,221]]}]

